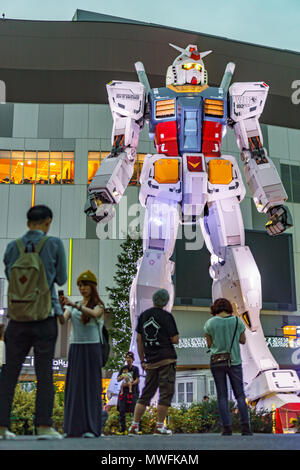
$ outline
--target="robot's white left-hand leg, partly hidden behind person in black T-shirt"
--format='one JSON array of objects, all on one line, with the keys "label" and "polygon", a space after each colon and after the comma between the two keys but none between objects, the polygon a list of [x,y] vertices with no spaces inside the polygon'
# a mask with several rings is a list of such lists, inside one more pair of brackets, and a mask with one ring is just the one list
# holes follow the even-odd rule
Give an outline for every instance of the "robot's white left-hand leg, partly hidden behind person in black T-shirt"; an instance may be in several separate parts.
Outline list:
[{"label": "robot's white left-hand leg, partly hidden behind person in black T-shirt", "polygon": [[175,201],[148,197],[144,220],[143,256],[138,261],[137,274],[130,290],[130,317],[132,339],[130,349],[139,357],[136,347],[136,326],[139,315],[153,306],[152,296],[158,289],[166,289],[170,300],[165,309],[172,310],[174,263],[170,257],[174,251],[179,225],[179,205]]}]

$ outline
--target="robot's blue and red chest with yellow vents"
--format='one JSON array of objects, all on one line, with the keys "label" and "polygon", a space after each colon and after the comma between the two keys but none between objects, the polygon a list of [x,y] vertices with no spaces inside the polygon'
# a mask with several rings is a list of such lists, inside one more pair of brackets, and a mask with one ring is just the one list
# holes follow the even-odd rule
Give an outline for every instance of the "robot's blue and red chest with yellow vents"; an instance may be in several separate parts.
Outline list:
[{"label": "robot's blue and red chest with yellow vents", "polygon": [[220,156],[225,114],[223,100],[201,96],[155,100],[150,124],[157,152],[168,156],[186,152]]}]

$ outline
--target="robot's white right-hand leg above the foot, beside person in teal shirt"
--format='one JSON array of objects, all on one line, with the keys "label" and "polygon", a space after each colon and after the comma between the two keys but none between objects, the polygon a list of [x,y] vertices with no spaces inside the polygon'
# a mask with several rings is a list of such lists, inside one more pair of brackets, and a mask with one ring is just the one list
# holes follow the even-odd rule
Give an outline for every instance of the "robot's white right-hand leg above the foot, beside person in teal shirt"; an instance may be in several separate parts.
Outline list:
[{"label": "robot's white right-hand leg above the foot, beside person in teal shirt", "polygon": [[237,198],[211,203],[201,220],[206,245],[211,252],[212,298],[224,297],[246,326],[246,344],[241,345],[244,381],[278,364],[266,344],[260,323],[261,278],[249,247],[244,245],[244,227]]}]

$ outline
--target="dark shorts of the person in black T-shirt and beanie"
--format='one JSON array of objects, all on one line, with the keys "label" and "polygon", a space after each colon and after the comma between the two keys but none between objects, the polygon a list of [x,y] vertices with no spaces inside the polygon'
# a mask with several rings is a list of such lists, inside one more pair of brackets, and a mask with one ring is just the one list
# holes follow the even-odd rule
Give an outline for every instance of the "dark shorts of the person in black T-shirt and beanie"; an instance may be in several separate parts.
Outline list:
[{"label": "dark shorts of the person in black T-shirt and beanie", "polygon": [[159,388],[159,405],[170,406],[175,391],[176,363],[146,370],[146,381],[137,403],[149,406]]}]

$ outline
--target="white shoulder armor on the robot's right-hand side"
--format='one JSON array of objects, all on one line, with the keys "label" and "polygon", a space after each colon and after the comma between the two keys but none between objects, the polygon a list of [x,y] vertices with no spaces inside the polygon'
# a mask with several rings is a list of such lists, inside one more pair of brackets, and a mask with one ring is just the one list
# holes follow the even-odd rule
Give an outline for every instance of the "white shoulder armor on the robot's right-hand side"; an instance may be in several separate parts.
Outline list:
[{"label": "white shoulder armor on the robot's right-hand side", "polygon": [[269,86],[264,82],[236,82],[229,88],[230,118],[242,121],[259,117],[264,109]]}]

